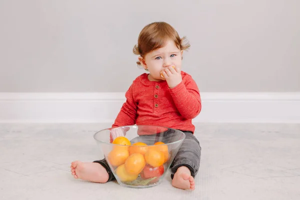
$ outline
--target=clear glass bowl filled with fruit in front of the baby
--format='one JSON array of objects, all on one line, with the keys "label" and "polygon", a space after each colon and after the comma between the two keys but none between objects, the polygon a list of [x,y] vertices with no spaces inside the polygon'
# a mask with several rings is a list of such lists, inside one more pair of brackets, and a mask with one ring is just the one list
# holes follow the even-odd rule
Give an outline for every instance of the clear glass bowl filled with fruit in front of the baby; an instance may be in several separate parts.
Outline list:
[{"label": "clear glass bowl filled with fruit in front of the baby", "polygon": [[102,129],[93,137],[117,182],[143,188],[161,183],[185,134],[162,126],[129,125]]}]

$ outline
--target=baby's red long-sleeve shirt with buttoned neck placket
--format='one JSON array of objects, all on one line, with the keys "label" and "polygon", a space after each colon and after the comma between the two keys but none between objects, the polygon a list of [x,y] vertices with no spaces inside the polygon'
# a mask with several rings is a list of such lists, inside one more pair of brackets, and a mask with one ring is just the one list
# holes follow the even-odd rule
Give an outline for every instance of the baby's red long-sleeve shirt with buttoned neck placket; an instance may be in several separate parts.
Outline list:
[{"label": "baby's red long-sleeve shirt with buttoned neck placket", "polygon": [[182,81],[170,89],[166,81],[150,81],[147,75],[133,80],[112,127],[160,125],[194,132],[191,119],[199,114],[201,99],[192,77],[181,71]]}]

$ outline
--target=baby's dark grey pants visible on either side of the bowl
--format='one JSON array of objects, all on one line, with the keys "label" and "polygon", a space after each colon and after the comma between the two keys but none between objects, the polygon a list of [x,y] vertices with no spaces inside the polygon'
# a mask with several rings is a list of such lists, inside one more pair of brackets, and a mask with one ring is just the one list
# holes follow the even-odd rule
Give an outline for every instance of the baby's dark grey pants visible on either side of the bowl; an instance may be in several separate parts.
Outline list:
[{"label": "baby's dark grey pants visible on either side of the bowl", "polygon": [[[170,165],[171,178],[173,179],[174,173],[177,171],[177,168],[180,166],[186,166],[191,173],[192,177],[195,177],[200,167],[200,157],[201,157],[201,147],[197,138],[190,131],[183,131],[185,133],[185,139],[183,140],[177,154],[174,157]],[[163,134],[172,134],[172,132],[165,132]],[[109,178],[107,180],[114,180],[115,177],[109,168],[106,159],[95,160],[93,162],[97,162],[101,164],[107,171]]]}]

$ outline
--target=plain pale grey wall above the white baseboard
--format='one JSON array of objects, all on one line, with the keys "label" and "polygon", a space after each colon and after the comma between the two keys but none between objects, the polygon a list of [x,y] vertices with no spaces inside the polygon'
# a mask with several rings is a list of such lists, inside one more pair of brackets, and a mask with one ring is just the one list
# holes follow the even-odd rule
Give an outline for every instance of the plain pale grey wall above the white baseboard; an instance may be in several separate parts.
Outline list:
[{"label": "plain pale grey wall above the white baseboard", "polygon": [[[178,4],[176,4],[178,3]],[[200,91],[300,91],[299,0],[0,0],[0,92],[118,92],[166,21]]]}]

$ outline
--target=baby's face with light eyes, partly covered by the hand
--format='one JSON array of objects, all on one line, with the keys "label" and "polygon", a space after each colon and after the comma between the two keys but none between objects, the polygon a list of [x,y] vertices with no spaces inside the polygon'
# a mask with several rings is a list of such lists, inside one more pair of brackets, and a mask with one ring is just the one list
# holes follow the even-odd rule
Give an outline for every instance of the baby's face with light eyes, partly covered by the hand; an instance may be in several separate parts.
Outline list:
[{"label": "baby's face with light eyes, partly covered by the hand", "polygon": [[167,40],[165,46],[147,53],[143,58],[139,57],[142,66],[149,71],[149,79],[153,81],[164,80],[160,71],[169,65],[175,65],[181,69],[182,51],[177,48],[174,41]]}]

